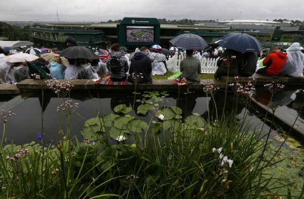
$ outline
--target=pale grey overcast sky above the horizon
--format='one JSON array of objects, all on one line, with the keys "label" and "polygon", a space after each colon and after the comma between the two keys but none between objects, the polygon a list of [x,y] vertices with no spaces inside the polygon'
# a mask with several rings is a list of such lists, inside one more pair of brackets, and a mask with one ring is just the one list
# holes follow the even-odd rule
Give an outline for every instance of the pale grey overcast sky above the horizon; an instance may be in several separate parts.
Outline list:
[{"label": "pale grey overcast sky above the horizon", "polygon": [[303,0],[2,0],[1,21],[304,20]]}]

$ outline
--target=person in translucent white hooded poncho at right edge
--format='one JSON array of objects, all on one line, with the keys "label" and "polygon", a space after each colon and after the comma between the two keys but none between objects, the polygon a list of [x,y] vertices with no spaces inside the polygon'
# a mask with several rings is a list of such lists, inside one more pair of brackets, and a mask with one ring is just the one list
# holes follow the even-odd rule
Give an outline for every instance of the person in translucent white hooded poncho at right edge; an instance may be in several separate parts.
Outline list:
[{"label": "person in translucent white hooded poncho at right edge", "polygon": [[280,72],[280,76],[302,77],[304,69],[304,54],[301,52],[300,44],[293,43],[287,50],[287,59]]}]

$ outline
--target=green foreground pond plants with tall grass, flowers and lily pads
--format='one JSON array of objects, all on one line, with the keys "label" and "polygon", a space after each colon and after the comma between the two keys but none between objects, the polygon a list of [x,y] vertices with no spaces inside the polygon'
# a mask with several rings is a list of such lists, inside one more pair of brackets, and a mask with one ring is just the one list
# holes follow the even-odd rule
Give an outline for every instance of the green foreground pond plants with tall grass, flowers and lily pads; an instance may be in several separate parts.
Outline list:
[{"label": "green foreground pond plants with tall grass, flowers and lily pads", "polygon": [[[212,100],[215,90],[214,87],[205,89]],[[181,112],[176,107],[164,105],[148,112],[150,122],[146,127],[145,122],[134,116],[98,115],[94,122],[86,122],[91,139],[79,141],[70,136],[70,115],[77,108],[78,104],[69,100],[58,107],[66,117],[67,129],[62,130],[65,136],[47,147],[35,142],[23,146],[1,145],[1,197],[277,196],[277,189],[271,187],[278,179],[264,174],[270,164],[261,158],[269,142],[263,141],[261,130],[252,131],[245,118],[236,118],[234,111],[228,114],[223,110],[218,114],[221,110],[215,106],[209,110],[215,112],[215,117],[208,115],[205,120],[200,115],[191,115],[181,121],[178,117]],[[175,115],[170,115],[172,113]],[[6,122],[13,122],[11,120],[13,118]],[[118,120],[121,121],[119,127],[116,126]],[[110,138],[113,132],[120,136],[134,135],[134,141],[129,144],[125,144],[124,139],[115,141]],[[2,141],[4,136],[5,128]],[[272,160],[273,156],[269,158]]]}]

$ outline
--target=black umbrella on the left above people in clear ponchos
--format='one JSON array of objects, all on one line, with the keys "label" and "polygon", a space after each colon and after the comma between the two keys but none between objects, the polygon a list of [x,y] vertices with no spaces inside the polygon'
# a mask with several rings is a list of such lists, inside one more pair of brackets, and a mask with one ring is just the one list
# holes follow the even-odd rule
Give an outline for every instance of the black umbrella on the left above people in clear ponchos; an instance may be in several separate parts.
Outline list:
[{"label": "black umbrella on the left above people in clear ponchos", "polygon": [[98,59],[99,58],[95,53],[93,53],[93,51],[91,51],[88,48],[82,47],[82,46],[68,47],[68,48],[64,49],[64,51],[62,51],[62,53],[59,55],[59,57],[66,57],[66,58],[70,58],[70,59],[78,59],[78,58]]}]

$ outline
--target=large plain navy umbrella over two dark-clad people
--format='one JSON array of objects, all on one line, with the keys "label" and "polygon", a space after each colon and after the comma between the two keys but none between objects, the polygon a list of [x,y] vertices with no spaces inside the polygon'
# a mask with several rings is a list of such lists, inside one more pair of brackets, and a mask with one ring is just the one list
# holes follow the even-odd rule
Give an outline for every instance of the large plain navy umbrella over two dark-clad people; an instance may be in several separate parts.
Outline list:
[{"label": "large plain navy umbrella over two dark-clad people", "polygon": [[223,48],[232,49],[240,53],[260,52],[262,50],[262,45],[257,38],[246,33],[229,33],[215,43]]}]

